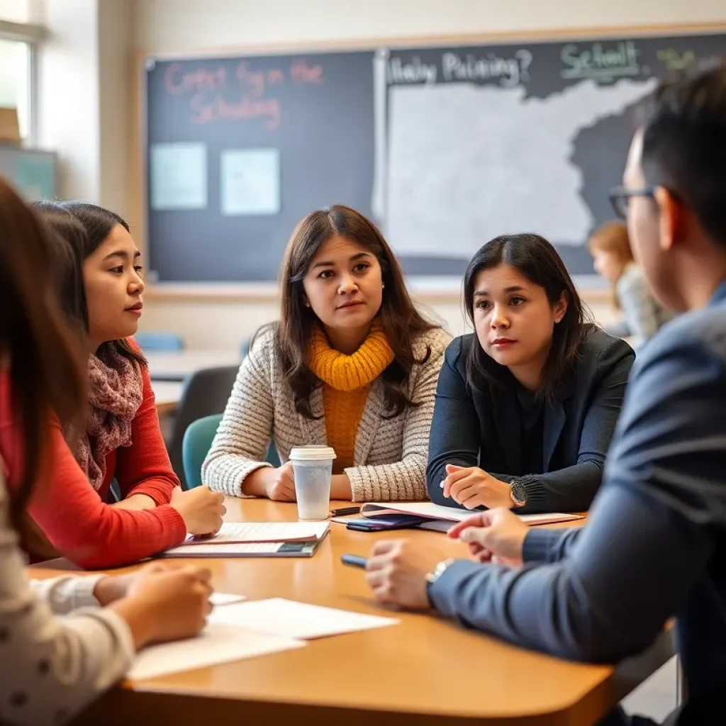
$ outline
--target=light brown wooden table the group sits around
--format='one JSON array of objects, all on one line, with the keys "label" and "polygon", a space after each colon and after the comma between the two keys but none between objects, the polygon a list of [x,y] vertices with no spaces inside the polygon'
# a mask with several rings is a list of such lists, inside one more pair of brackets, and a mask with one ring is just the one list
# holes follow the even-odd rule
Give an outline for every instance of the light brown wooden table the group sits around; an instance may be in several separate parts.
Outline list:
[{"label": "light brown wooden table the group sits around", "polygon": [[[229,521],[296,518],[295,505],[262,499],[227,502]],[[390,537],[435,545],[442,557],[466,556],[462,544],[435,532],[369,534],[331,523],[330,535],[312,558],[205,562],[220,592],[390,614],[372,603],[364,573],[340,563],[343,553],[367,555],[375,539]],[[55,560],[30,568],[30,574],[54,576],[63,568],[68,563]],[[587,726],[672,654],[664,637],[618,669],[573,664],[468,632],[435,616],[395,616],[401,619],[399,625],[315,640],[299,650],[125,682],[75,723]]]}]

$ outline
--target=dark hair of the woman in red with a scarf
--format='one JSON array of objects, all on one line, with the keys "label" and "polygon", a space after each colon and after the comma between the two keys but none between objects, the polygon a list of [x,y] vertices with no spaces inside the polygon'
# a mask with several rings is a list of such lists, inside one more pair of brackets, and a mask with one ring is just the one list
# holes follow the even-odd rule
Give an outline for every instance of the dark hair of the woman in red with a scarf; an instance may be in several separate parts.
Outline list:
[{"label": "dark hair of the woman in red with a scarf", "polygon": [[[69,319],[78,319],[78,315],[81,315],[83,331],[87,334],[89,332],[89,312],[83,285],[83,262],[102,245],[117,224],[121,224],[126,232],[130,232],[129,224],[115,212],[86,202],[46,202],[38,205],[38,209],[55,236],[65,240],[67,245],[73,248],[73,256],[69,260],[69,264],[76,265],[77,271],[72,276],[73,282],[65,286],[65,295],[61,299],[61,304]],[[76,219],[83,234],[79,234],[78,227],[70,224],[64,213],[69,213],[73,219]],[[68,251],[67,245],[64,247]],[[71,289],[72,285],[76,285],[75,290]],[[82,306],[80,312],[78,311],[79,306]],[[102,354],[105,347],[115,348],[118,354],[131,362],[136,362],[141,367],[147,365],[141,352],[126,340],[110,340],[103,343],[97,353]]]}]

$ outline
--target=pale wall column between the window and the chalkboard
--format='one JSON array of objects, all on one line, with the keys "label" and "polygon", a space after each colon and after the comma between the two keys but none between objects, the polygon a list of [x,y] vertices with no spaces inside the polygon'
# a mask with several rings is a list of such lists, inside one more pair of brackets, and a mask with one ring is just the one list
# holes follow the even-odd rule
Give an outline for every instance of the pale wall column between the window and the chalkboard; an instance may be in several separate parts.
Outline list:
[{"label": "pale wall column between the window and the chalkboard", "polygon": [[134,0],[31,4],[48,30],[38,54],[38,145],[58,153],[58,194],[127,214]]}]

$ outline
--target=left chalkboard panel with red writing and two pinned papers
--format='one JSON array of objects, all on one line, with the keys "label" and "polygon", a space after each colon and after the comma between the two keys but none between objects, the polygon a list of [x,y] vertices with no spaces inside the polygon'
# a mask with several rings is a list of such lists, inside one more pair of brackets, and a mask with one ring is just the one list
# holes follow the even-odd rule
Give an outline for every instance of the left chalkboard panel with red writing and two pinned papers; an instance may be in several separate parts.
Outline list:
[{"label": "left chalkboard panel with red writing and two pinned papers", "polygon": [[[147,62],[148,266],[158,280],[274,280],[309,211],[343,203],[371,214],[372,59],[355,52]],[[270,203],[275,189],[253,200],[262,213],[234,199],[246,189],[235,166],[240,174],[277,171],[279,213]]]}]

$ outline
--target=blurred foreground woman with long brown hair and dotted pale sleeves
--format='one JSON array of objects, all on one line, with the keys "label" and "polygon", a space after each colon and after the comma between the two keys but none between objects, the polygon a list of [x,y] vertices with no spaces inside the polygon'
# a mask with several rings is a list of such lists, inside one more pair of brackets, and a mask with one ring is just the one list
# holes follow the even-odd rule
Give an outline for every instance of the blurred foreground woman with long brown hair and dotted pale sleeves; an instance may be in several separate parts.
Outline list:
[{"label": "blurred foreground woman with long brown hair and dotted pale sleeves", "polygon": [[55,427],[82,431],[86,405],[85,355],[57,306],[58,263],[41,221],[0,179],[0,431],[17,428],[23,441],[14,488],[0,461],[4,724],[68,722],[123,677],[136,650],[197,635],[210,610],[205,568],[25,578],[20,539],[57,476]]}]

